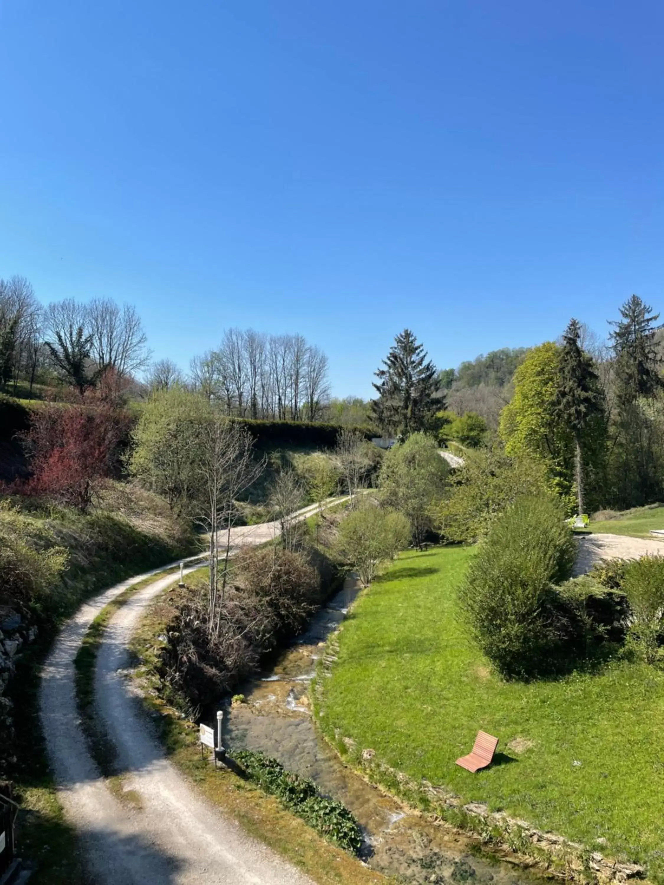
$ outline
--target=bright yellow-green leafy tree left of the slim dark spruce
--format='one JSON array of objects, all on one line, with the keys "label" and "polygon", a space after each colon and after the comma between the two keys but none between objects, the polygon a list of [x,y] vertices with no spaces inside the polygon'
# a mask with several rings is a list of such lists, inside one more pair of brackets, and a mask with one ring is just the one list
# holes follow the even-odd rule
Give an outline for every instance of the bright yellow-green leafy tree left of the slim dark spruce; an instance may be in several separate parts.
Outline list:
[{"label": "bright yellow-green leafy tree left of the slim dark spruce", "polygon": [[514,396],[500,413],[498,433],[507,455],[543,464],[551,489],[569,502],[574,440],[557,407],[560,356],[553,342],[529,350],[514,373]]}]

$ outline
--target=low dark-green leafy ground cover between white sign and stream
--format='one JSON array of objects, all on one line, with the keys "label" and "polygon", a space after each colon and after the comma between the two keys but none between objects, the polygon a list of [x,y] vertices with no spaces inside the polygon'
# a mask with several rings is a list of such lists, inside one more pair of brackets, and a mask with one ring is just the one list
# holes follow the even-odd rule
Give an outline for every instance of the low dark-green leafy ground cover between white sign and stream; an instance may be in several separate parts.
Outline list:
[{"label": "low dark-green leafy ground cover between white sign and stream", "polygon": [[362,834],[358,821],[344,804],[321,796],[312,780],[288,771],[276,759],[261,752],[240,750],[235,754],[235,761],[251,781],[277,797],[320,835],[340,848],[359,853]]}]

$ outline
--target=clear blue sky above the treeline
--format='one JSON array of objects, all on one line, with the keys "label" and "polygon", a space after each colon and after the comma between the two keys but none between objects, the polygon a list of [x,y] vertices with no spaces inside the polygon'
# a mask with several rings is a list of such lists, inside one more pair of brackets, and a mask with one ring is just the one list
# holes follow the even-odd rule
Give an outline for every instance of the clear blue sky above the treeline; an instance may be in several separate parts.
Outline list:
[{"label": "clear blue sky above the treeline", "polygon": [[0,276],[112,296],[187,366],[301,332],[368,395],[598,331],[664,276],[655,0],[3,0]]}]

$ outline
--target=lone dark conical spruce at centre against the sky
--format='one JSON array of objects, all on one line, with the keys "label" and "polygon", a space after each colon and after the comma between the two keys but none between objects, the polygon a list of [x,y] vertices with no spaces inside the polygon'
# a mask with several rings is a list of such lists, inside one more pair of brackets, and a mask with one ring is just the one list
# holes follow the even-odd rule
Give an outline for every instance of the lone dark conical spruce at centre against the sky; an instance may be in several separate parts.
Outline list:
[{"label": "lone dark conical spruce at centre against the sky", "polygon": [[390,353],[382,360],[384,368],[375,373],[378,396],[371,401],[371,411],[383,432],[405,438],[423,430],[434,412],[444,409],[444,400],[436,397],[436,366],[427,357],[410,329],[394,339]]}]

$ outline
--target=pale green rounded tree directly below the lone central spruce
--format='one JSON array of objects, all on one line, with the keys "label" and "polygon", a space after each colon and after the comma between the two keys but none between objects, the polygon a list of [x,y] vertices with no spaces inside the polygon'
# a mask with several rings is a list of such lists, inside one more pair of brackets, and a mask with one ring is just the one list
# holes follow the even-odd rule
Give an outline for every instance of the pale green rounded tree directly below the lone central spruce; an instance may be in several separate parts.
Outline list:
[{"label": "pale green rounded tree directly below the lone central spruce", "polygon": [[379,474],[382,501],[408,519],[417,547],[433,525],[435,506],[443,497],[449,470],[435,440],[422,433],[410,435],[383,458]]}]

